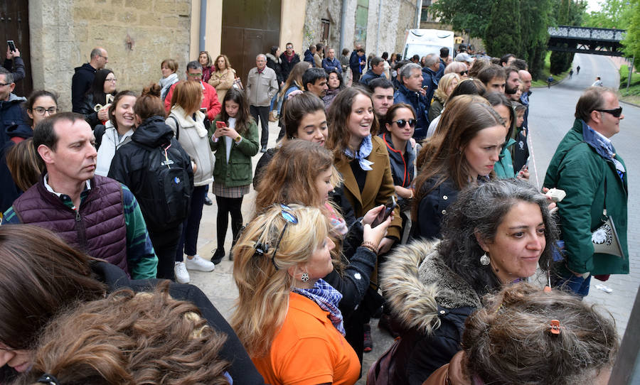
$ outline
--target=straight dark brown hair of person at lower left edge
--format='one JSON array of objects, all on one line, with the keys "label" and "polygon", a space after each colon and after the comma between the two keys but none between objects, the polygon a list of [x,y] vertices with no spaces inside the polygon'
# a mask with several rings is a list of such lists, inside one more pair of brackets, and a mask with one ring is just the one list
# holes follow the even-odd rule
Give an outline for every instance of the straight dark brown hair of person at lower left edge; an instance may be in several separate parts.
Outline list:
[{"label": "straight dark brown hair of person at lower left edge", "polygon": [[0,226],[0,342],[31,349],[55,313],[100,298],[106,286],[93,276],[90,261],[42,227]]}]

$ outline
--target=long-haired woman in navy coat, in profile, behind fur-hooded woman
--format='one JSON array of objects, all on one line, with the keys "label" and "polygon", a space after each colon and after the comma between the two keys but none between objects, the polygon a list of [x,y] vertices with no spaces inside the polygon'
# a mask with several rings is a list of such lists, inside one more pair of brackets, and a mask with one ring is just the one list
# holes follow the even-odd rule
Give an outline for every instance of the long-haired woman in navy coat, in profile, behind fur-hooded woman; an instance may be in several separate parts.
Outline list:
[{"label": "long-haired woman in navy coat, in profile, behind fur-hooded woman", "polygon": [[483,97],[447,102],[438,130],[420,151],[412,206],[412,237],[440,237],[440,223],[460,190],[495,178],[507,129]]}]

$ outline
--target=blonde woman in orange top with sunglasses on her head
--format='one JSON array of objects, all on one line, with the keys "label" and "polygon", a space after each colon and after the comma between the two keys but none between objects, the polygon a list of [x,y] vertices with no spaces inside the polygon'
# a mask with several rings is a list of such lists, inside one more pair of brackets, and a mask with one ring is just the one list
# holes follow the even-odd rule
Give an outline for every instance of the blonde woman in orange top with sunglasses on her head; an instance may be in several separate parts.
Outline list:
[{"label": "blonde woman in orange top with sunglasses on her head", "polygon": [[355,384],[356,352],[344,339],[342,295],[322,278],[334,265],[322,210],[273,205],[233,249],[238,300],[231,325],[267,384]]}]

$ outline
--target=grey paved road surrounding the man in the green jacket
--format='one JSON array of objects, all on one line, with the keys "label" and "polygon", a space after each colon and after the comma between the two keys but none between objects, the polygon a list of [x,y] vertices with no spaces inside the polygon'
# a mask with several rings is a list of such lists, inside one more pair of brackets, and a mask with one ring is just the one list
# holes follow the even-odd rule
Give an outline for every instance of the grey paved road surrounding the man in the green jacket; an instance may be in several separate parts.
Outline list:
[{"label": "grey paved road surrounding the man in the green jacket", "polygon": [[[556,146],[573,124],[575,104],[586,87],[592,85],[595,77],[602,77],[607,87],[619,84],[619,75],[611,60],[606,56],[575,55],[574,68],[580,65],[580,75],[573,75],[551,89],[534,90],[530,97],[529,121],[531,140],[535,154],[536,173],[540,185],[543,183],[547,166]],[[620,133],[612,138],[612,143],[626,163],[629,170],[629,261],[628,275],[613,275],[604,285],[613,289],[605,293],[595,286],[602,283],[592,279],[590,294],[586,300],[603,305],[614,315],[619,332],[624,332],[636,292],[640,285],[640,239],[634,233],[640,225],[640,133],[637,131],[640,121],[640,109],[629,104],[621,104],[624,119],[620,122]],[[535,181],[535,180],[534,180]],[[640,325],[633,325],[640,332]]]}]

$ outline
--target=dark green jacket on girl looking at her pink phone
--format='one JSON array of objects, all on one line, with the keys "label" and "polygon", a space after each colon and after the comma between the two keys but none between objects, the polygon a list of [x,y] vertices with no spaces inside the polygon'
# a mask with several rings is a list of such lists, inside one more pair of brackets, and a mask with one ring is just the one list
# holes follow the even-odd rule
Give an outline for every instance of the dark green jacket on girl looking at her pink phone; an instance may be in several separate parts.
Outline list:
[{"label": "dark green jacket on girl looking at her pink phone", "polygon": [[[218,121],[216,119],[215,121]],[[215,121],[209,129],[209,137],[213,139],[215,131]],[[250,119],[249,129],[241,134],[242,141],[231,143],[229,163],[227,163],[227,144],[225,137],[221,136],[217,142],[210,140],[211,150],[215,151],[215,166],[213,167],[213,180],[216,183],[223,183],[227,187],[237,187],[250,185],[253,180],[253,168],[251,157],[257,154],[258,131],[257,124]]]}]

